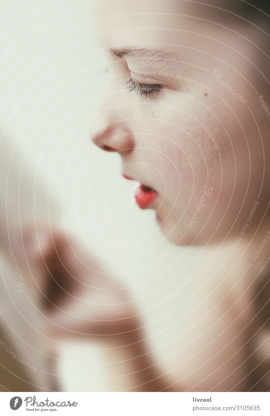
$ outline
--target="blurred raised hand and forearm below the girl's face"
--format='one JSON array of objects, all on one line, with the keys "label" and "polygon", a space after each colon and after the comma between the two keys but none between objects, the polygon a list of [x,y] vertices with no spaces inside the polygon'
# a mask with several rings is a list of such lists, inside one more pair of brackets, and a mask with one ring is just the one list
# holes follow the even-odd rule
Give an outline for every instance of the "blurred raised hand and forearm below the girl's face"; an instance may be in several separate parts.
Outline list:
[{"label": "blurred raised hand and forearm below the girl's face", "polygon": [[[53,339],[98,337],[108,347],[116,390],[168,390],[152,362],[133,301],[91,251],[57,230],[28,230],[25,254],[39,270],[41,313]],[[116,376],[117,375],[117,376]]]}]

